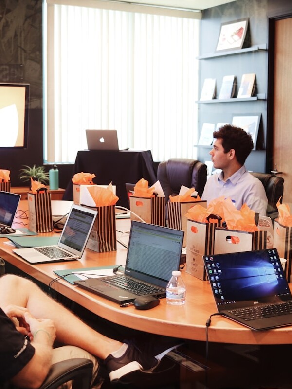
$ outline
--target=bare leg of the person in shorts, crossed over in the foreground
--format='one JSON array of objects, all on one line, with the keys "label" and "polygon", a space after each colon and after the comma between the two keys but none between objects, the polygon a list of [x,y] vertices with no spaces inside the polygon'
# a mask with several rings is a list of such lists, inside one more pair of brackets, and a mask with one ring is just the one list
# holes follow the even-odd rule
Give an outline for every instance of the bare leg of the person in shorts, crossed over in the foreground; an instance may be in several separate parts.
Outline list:
[{"label": "bare leg of the person in shorts, crossed over in the foreground", "polygon": [[15,275],[0,278],[0,307],[18,305],[27,308],[35,318],[50,318],[56,327],[56,339],[78,346],[105,359],[123,343],[94,331],[67,308],[46,295],[35,283]]}]

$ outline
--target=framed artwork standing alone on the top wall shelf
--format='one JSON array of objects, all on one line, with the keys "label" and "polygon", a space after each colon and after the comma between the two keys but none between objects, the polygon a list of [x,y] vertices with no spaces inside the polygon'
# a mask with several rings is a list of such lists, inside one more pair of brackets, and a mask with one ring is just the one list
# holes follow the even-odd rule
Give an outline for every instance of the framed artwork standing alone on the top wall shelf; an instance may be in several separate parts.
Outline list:
[{"label": "framed artwork standing alone on the top wall shelf", "polygon": [[221,23],[216,52],[242,49],[248,29],[248,21],[249,18],[244,18]]}]

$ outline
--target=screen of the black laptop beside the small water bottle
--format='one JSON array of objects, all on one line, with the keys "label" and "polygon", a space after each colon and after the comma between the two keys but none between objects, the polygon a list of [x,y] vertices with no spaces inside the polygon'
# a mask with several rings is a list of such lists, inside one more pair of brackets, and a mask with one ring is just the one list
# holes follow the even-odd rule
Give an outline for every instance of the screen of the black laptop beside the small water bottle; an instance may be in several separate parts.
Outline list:
[{"label": "screen of the black laptop beside the small water bottle", "polygon": [[166,287],[178,270],[183,231],[132,221],[125,274]]}]

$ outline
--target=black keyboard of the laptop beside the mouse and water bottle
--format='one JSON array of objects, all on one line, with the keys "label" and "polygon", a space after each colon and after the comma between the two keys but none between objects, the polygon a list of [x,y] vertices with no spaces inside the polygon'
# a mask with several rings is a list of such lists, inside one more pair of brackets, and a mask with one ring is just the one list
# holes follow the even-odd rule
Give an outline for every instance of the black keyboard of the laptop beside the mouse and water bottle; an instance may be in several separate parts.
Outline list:
[{"label": "black keyboard of the laptop beside the mouse and water bottle", "polygon": [[147,283],[143,283],[123,275],[110,277],[110,278],[106,277],[101,280],[106,283],[119,286],[120,288],[125,289],[128,292],[131,292],[137,296],[148,295],[148,294],[155,295],[156,293],[161,293],[161,292],[165,293],[165,290],[162,288],[158,288],[156,286],[152,286]]}]

